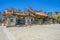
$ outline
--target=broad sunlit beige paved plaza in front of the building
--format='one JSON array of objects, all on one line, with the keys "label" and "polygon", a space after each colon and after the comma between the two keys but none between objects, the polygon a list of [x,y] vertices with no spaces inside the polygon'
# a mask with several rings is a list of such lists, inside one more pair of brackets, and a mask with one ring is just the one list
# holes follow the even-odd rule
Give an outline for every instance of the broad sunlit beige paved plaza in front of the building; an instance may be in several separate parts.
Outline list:
[{"label": "broad sunlit beige paved plaza in front of the building", "polygon": [[9,27],[17,40],[60,40],[60,24]]}]

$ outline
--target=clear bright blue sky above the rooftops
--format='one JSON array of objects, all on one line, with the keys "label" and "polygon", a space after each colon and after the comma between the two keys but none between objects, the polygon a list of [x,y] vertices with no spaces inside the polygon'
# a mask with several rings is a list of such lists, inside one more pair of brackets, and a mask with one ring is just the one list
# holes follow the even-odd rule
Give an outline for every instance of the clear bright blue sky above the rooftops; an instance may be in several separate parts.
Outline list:
[{"label": "clear bright blue sky above the rooftops", "polygon": [[60,0],[0,0],[0,11],[6,8],[24,10],[32,7],[44,12],[60,12]]}]

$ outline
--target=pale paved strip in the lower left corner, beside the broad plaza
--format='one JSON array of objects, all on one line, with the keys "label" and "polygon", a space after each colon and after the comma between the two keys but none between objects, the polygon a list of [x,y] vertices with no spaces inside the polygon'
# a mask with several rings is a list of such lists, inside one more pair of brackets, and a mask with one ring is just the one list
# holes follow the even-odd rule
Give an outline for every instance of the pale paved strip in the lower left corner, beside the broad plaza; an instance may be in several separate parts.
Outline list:
[{"label": "pale paved strip in the lower left corner, beside the broad plaza", "polygon": [[16,40],[6,26],[0,26],[0,40]]}]

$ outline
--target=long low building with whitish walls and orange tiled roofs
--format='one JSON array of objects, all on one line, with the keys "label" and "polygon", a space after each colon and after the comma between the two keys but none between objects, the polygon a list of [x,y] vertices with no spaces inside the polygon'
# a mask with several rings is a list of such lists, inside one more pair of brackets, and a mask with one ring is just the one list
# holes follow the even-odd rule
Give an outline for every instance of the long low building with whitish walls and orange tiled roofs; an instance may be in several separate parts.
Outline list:
[{"label": "long low building with whitish walls and orange tiled roofs", "polygon": [[12,8],[3,12],[3,20],[7,26],[46,24],[50,19],[49,14],[43,11],[35,11],[31,8],[24,12]]}]

